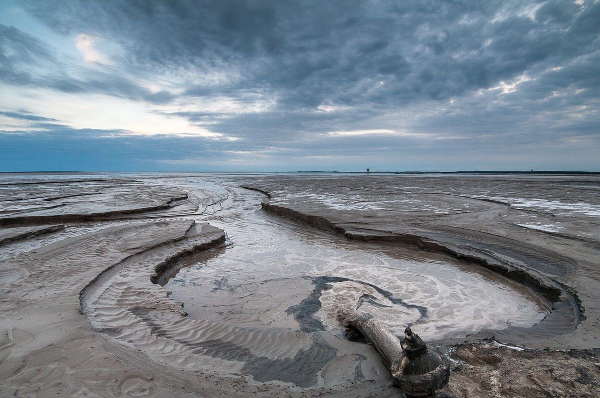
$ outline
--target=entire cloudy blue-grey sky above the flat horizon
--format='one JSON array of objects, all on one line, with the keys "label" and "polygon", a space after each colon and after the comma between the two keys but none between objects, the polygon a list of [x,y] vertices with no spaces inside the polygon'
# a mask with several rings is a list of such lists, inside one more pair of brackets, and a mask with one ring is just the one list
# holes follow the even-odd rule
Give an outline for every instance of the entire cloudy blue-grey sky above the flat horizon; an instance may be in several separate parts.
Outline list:
[{"label": "entire cloudy blue-grey sky above the flat horizon", "polygon": [[600,171],[600,1],[0,0],[0,171]]}]

